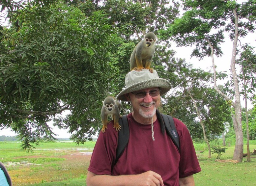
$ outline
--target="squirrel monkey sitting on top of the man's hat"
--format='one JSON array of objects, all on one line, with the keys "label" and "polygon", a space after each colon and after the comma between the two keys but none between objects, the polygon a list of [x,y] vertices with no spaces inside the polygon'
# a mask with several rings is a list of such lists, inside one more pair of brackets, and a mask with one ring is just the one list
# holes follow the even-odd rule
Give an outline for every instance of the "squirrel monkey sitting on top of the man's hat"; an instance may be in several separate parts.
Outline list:
[{"label": "squirrel monkey sitting on top of the man's hat", "polygon": [[156,50],[156,35],[149,32],[144,36],[133,49],[130,57],[130,70],[141,71],[149,69],[153,73],[153,68],[150,68],[152,58]]}]

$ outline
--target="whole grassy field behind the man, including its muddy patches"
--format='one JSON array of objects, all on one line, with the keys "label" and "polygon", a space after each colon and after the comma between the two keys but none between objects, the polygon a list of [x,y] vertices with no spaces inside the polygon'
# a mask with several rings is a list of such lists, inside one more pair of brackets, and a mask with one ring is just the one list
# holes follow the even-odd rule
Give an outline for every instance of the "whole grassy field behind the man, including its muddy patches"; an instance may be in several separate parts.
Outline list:
[{"label": "whole grassy field behind the man, including its muddy patches", "polygon": [[[79,146],[72,142],[40,143],[33,153],[27,153],[19,149],[20,143],[0,142],[0,161],[7,167],[14,186],[82,186],[86,185],[94,145],[95,142]],[[234,146],[227,148],[221,160],[232,159]],[[244,157],[242,163],[220,163],[214,161],[217,154],[207,157],[204,144],[195,144],[195,149],[202,168],[194,175],[196,185],[256,185],[256,155],[251,156],[251,162]],[[253,149],[256,141],[250,142],[250,151]]]}]

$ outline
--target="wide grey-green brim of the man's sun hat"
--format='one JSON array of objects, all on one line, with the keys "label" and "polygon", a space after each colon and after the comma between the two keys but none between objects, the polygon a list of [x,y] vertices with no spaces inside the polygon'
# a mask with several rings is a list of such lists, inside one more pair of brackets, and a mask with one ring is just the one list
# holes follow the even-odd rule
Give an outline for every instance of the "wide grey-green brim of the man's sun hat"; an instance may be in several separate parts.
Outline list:
[{"label": "wide grey-green brim of the man's sun hat", "polygon": [[117,99],[121,101],[127,101],[125,94],[143,90],[143,89],[155,88],[155,87],[160,88],[160,96],[164,95],[172,88],[171,83],[166,79],[162,79],[162,78],[149,79],[143,82],[135,83],[127,87],[117,95]]}]

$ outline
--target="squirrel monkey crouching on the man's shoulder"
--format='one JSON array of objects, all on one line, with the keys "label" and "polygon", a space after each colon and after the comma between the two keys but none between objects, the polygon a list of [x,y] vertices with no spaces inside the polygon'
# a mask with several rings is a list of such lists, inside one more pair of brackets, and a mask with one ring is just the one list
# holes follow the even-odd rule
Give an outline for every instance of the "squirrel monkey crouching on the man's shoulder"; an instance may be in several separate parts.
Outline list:
[{"label": "squirrel monkey crouching on the man's shoulder", "polygon": [[104,101],[102,101],[103,105],[101,108],[100,118],[101,122],[103,124],[103,127],[101,131],[104,133],[105,129],[107,129],[107,124],[109,121],[107,120],[107,117],[111,115],[112,120],[114,120],[114,128],[116,128],[116,131],[121,129],[121,126],[119,125],[119,118],[121,118],[120,109],[122,104],[117,101],[117,99],[114,96],[107,96]]}]

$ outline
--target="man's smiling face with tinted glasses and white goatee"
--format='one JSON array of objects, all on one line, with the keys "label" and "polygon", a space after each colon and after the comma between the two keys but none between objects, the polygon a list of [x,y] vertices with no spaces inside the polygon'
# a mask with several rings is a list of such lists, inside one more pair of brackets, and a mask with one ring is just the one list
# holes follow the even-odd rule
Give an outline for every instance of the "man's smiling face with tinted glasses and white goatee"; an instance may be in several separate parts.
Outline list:
[{"label": "man's smiling face with tinted glasses and white goatee", "polygon": [[143,118],[151,118],[156,114],[156,109],[160,104],[159,88],[129,93],[127,99],[131,101],[134,114],[139,113]]}]

